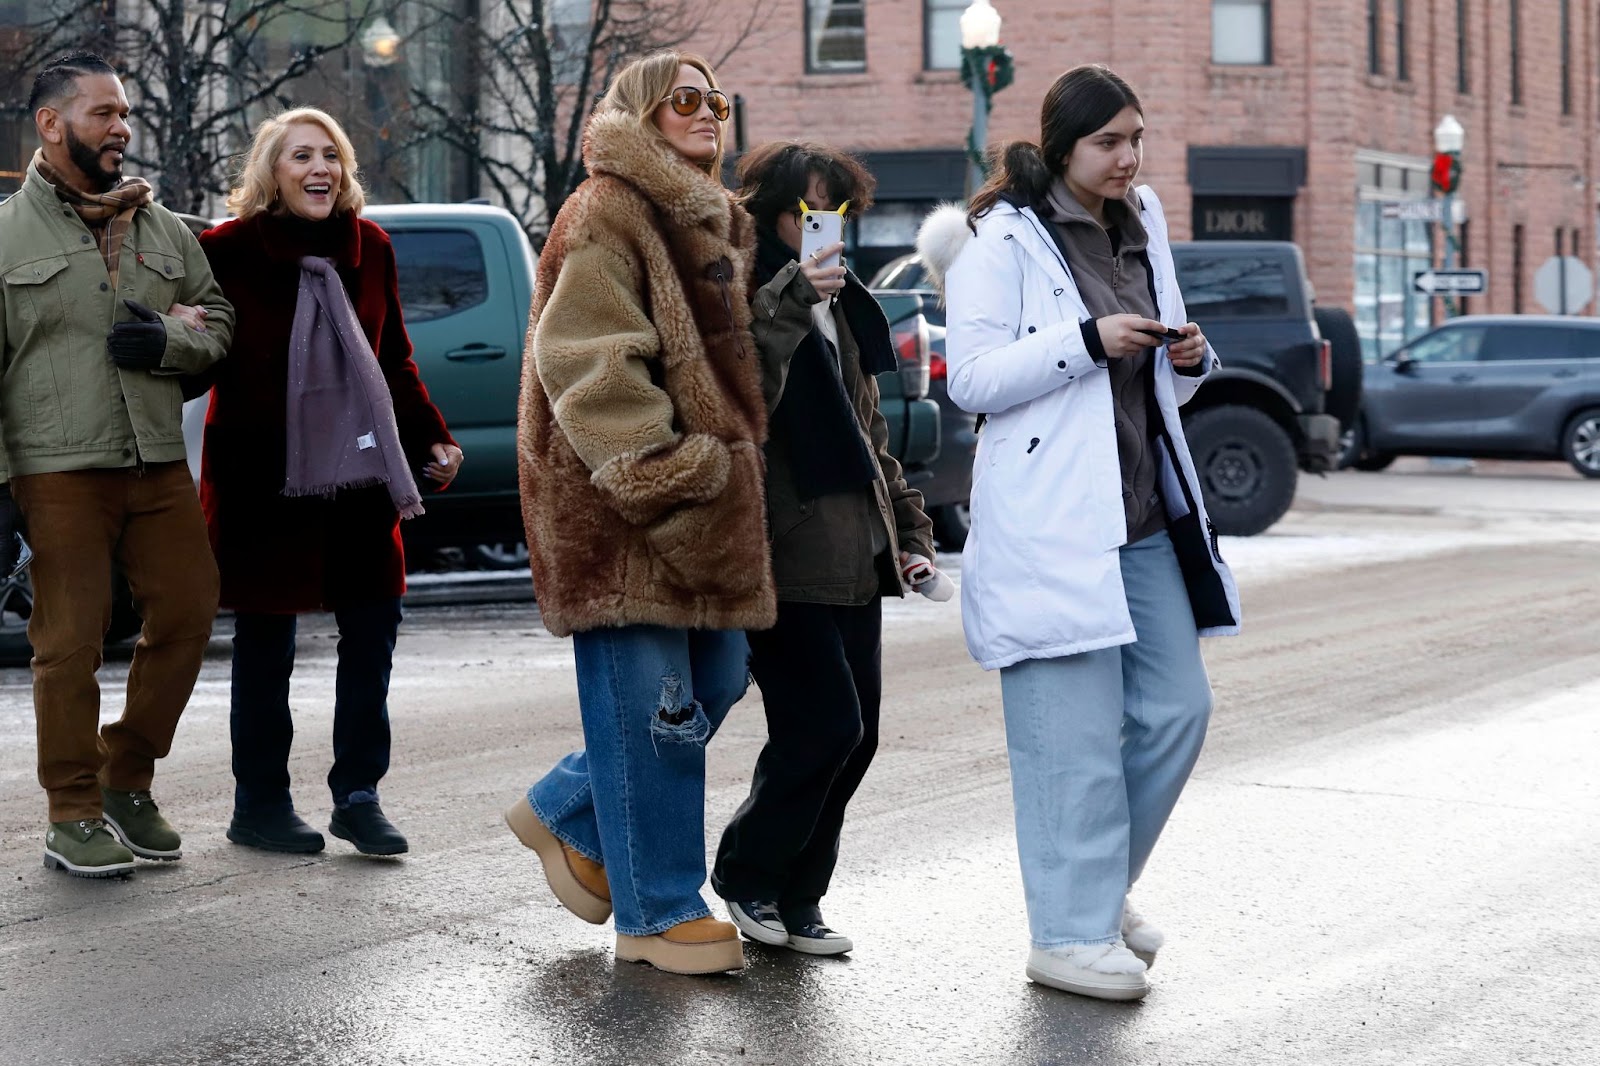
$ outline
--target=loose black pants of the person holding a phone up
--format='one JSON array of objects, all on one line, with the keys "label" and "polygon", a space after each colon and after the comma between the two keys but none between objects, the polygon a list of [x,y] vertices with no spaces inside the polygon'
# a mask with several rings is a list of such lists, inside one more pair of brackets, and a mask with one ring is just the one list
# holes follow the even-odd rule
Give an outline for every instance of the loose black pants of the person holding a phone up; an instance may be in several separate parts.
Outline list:
[{"label": "loose black pants of the person holding a phone up", "polygon": [[710,882],[723,900],[803,912],[827,892],[845,805],[878,749],[883,605],[779,602],[778,624],[749,637],[766,747]]}]

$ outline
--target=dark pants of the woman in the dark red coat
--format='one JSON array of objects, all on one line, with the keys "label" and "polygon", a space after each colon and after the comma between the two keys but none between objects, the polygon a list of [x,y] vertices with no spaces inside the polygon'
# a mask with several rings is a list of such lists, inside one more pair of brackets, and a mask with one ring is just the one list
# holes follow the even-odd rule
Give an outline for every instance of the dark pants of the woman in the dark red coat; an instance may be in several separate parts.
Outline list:
[{"label": "dark pants of the woman in the dark red coat", "polygon": [[[400,600],[371,600],[334,610],[339,624],[333,698],[333,770],[328,787],[344,807],[376,799],[389,771],[389,672],[400,632]],[[294,615],[234,618],[234,807],[283,810],[290,800],[290,674],[294,672]],[[366,794],[371,794],[370,797]]]}]

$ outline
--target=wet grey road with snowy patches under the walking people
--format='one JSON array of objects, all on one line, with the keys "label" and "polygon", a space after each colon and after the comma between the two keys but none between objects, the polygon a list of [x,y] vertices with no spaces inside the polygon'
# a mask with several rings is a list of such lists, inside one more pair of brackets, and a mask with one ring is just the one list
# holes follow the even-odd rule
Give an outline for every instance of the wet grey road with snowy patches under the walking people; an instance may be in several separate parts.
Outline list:
[{"label": "wet grey road with snowy patches under the walking people", "polygon": [[[499,820],[578,743],[568,645],[530,605],[416,608],[398,861],[227,844],[218,642],[157,778],[184,861],[46,872],[27,674],[0,671],[0,1063],[1600,1061],[1600,487],[1402,467],[1310,482],[1224,544],[1248,629],[1206,645],[1213,731],[1136,893],[1168,933],[1142,1004],[1022,976],[998,682],[955,603],[886,611],[883,743],[826,900],[856,952],[750,946],[709,980],[614,964]],[[331,687],[312,619],[293,773],[314,821]],[[714,834],[755,701],[710,749]]]}]

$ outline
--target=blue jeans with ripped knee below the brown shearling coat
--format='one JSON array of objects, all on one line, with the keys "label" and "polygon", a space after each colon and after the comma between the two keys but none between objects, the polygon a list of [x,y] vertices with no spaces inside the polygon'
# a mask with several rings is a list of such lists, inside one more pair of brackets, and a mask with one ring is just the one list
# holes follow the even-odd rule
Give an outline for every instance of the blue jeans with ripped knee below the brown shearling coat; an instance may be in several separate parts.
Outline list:
[{"label": "blue jeans with ripped knee below the brown shearling coat", "polygon": [[550,832],[603,863],[618,933],[706,917],[706,741],[744,696],[742,631],[573,634],[587,751],[528,789]]}]

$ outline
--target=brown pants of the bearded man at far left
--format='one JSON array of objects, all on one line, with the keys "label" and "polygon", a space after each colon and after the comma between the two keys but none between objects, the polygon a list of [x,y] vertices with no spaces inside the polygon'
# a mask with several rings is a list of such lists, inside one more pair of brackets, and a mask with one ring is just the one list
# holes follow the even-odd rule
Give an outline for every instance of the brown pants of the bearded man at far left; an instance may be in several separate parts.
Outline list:
[{"label": "brown pants of the bearded man at far left", "polygon": [[[34,719],[51,821],[101,816],[101,786],[147,789],[189,703],[218,575],[186,463],[11,479],[34,547]],[[144,632],[122,719],[99,727],[101,648],[112,565],[128,578]]]}]

